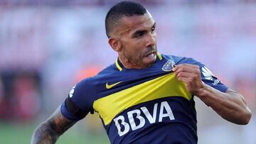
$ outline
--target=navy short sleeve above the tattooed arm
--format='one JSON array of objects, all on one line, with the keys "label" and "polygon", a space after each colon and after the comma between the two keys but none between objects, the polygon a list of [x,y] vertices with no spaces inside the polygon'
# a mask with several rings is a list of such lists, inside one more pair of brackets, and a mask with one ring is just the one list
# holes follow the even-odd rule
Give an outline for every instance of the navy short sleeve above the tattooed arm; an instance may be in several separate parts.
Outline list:
[{"label": "navy short sleeve above the tattooed arm", "polygon": [[[94,95],[95,87],[92,85],[94,82],[91,81],[92,80],[90,78],[84,79],[70,90],[68,98],[65,99],[60,107],[60,111],[65,118],[73,121],[79,121],[80,119],[84,118],[87,113],[93,111],[92,104],[94,100],[92,99],[92,96]],[[68,101],[79,109],[79,114],[70,111],[68,108],[69,105],[67,104]]]}]

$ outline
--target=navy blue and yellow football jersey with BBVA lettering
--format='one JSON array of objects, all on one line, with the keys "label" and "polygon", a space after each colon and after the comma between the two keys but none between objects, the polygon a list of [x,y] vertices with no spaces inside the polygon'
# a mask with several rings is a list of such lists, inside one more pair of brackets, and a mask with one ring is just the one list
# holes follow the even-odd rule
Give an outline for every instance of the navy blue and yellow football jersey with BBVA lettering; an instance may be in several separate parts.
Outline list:
[{"label": "navy blue and yellow football jersey with BBVA lettering", "polygon": [[96,111],[111,143],[197,143],[193,95],[172,68],[182,63],[198,65],[204,83],[220,92],[228,87],[192,58],[157,56],[149,68],[126,69],[117,59],[95,77],[83,79],[69,94],[82,112],[71,113],[64,102],[63,116],[78,121]]}]

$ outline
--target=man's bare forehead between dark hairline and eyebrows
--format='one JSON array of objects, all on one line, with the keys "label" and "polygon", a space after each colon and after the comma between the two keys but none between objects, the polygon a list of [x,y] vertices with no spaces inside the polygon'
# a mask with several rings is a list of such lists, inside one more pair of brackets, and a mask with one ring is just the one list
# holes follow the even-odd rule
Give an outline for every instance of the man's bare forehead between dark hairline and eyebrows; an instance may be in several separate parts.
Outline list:
[{"label": "man's bare forehead between dark hairline and eyebrows", "polygon": [[124,16],[120,21],[120,33],[128,33],[139,29],[151,28],[155,21],[149,12],[144,15]]}]

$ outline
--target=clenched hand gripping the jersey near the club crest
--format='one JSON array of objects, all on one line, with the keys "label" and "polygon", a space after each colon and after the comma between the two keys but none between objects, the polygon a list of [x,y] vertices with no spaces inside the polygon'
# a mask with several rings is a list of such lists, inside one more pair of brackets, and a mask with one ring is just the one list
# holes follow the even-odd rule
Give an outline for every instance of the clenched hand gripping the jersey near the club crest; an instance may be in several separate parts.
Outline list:
[{"label": "clenched hand gripping the jersey near the club crest", "polygon": [[174,74],[178,80],[185,82],[186,89],[192,95],[198,96],[203,91],[204,84],[201,80],[201,72],[198,65],[176,65],[174,67]]}]

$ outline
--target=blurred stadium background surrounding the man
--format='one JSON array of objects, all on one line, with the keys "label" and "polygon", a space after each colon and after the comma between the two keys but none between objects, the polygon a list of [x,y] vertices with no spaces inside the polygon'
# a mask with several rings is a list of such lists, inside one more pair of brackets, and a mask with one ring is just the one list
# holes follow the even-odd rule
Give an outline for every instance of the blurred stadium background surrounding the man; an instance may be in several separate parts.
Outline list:
[{"label": "blurred stadium background surrounding the man", "polygon": [[[105,15],[115,0],[0,0],[0,143],[33,130],[81,79],[111,65]],[[256,110],[256,0],[140,0],[161,53],[193,57]],[[256,118],[238,126],[196,99],[199,144],[255,144]],[[97,114],[58,143],[109,143]]]}]

